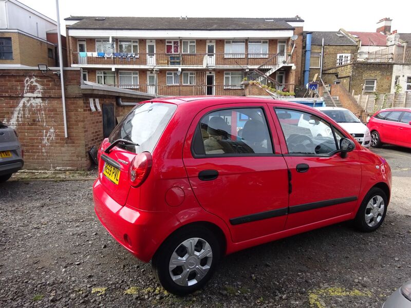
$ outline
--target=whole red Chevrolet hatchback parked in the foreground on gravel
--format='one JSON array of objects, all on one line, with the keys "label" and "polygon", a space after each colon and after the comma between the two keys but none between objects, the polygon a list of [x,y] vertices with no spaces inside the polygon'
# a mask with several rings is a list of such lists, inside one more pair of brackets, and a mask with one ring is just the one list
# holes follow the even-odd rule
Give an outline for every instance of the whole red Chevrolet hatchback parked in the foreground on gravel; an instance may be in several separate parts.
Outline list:
[{"label": "whole red Chevrolet hatchback parked in the foreground on gravel", "polygon": [[320,111],[189,97],[133,108],[99,149],[93,190],[108,232],[182,295],[240,249],[345,220],[377,229],[390,185],[388,163]]}]

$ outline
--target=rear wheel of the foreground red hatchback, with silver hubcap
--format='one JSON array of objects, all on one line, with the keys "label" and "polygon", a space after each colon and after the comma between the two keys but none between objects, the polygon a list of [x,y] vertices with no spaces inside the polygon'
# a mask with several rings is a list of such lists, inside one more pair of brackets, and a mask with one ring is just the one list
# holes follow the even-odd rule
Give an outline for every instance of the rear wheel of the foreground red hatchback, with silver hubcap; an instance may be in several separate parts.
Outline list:
[{"label": "rear wheel of the foreground red hatchback, with silver hubcap", "polygon": [[220,247],[210,229],[183,227],[172,234],[153,257],[154,275],[170,293],[192,293],[211,278],[220,258]]}]

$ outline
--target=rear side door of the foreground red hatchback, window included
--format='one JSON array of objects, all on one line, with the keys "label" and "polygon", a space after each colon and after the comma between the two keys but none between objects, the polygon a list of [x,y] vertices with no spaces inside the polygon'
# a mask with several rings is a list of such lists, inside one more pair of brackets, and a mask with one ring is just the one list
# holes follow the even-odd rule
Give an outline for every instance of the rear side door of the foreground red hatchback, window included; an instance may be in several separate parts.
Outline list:
[{"label": "rear side door of the foreground red hatchback, window included", "polygon": [[199,204],[230,227],[234,242],[282,231],[288,173],[265,104],[228,104],[199,112],[183,162]]}]

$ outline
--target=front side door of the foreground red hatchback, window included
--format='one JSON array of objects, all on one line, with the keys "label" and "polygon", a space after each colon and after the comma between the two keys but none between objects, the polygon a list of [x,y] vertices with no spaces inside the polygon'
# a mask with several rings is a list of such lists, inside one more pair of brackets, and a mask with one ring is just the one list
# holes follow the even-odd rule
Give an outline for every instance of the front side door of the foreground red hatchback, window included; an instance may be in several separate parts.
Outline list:
[{"label": "front side door of the foreground red hatchback, window included", "polygon": [[[361,165],[356,151],[342,158],[338,144],[344,134],[308,109],[277,105],[274,122],[282,131],[284,157],[290,172],[286,229],[347,216],[358,202]],[[304,117],[317,126],[301,126]]]}]

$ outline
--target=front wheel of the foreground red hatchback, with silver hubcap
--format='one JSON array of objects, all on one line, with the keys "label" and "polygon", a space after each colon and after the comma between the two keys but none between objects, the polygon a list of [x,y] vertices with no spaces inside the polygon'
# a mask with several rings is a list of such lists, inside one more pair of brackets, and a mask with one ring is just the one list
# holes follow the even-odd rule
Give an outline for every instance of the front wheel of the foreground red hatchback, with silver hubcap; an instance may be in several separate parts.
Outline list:
[{"label": "front wheel of the foreground red hatchback, with silver hubcap", "polygon": [[387,213],[388,199],[384,190],[373,187],[364,197],[358,209],[354,225],[363,232],[371,232],[378,229]]}]

